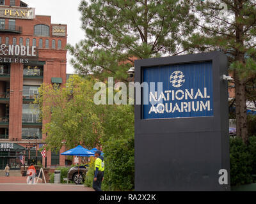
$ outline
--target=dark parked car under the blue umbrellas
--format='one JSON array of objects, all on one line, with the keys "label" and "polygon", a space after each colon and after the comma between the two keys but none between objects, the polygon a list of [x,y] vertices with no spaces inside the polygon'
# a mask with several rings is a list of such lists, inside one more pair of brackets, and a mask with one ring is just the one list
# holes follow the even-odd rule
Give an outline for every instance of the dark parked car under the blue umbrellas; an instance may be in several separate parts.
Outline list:
[{"label": "dark parked car under the blue umbrellas", "polygon": [[83,184],[84,178],[86,177],[86,172],[88,171],[86,167],[86,165],[79,166],[79,173],[78,166],[70,168],[68,171],[68,179],[73,180],[75,184]]}]

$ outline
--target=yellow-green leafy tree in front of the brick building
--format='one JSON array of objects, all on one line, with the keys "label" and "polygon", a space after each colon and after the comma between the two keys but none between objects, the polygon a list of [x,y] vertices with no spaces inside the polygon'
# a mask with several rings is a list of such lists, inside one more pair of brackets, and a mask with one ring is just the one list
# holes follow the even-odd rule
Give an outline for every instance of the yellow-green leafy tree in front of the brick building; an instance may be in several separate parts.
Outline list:
[{"label": "yellow-green leafy tree in front of the brick building", "polygon": [[93,80],[73,76],[63,87],[42,84],[39,97],[40,113],[46,124],[43,133],[48,149],[59,150],[83,145],[93,148],[99,145],[102,125],[93,103]]}]

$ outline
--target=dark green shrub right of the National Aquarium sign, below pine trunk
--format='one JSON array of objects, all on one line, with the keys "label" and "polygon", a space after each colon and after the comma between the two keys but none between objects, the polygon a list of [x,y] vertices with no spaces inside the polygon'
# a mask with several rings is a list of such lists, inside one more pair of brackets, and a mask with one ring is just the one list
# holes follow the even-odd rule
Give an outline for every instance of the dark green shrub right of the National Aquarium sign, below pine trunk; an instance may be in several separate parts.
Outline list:
[{"label": "dark green shrub right of the National Aquarium sign, below pine trunk", "polygon": [[230,181],[231,185],[248,184],[252,182],[253,157],[250,154],[250,144],[247,147],[242,138],[230,137]]}]

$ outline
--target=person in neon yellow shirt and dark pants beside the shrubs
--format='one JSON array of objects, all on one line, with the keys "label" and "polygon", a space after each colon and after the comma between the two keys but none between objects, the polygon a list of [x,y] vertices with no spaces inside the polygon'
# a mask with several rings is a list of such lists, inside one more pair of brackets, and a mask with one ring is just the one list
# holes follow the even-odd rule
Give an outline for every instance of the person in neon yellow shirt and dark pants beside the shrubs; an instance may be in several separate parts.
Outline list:
[{"label": "person in neon yellow shirt and dark pants beside the shrubs", "polygon": [[102,191],[101,189],[101,182],[104,180],[104,158],[100,156],[101,152],[100,150],[97,150],[95,152],[95,157],[97,159],[95,160],[94,163],[94,178],[93,178],[93,183],[92,187],[95,191]]}]

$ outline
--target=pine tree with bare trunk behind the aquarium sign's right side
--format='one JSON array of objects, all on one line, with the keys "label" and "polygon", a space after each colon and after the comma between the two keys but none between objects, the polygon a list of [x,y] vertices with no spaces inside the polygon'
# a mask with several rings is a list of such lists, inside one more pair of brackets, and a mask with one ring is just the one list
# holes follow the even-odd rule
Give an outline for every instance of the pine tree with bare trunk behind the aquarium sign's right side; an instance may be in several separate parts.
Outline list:
[{"label": "pine tree with bare trunk behind the aquarium sign's right side", "polygon": [[[254,87],[249,84],[252,84],[252,79],[256,76],[256,1],[187,2],[191,4],[191,13],[195,14],[195,18],[191,19],[196,19],[193,24],[198,27],[198,31],[186,42],[186,46],[190,43],[191,52],[221,50],[228,55],[236,87],[237,136],[248,143],[246,100],[255,99]],[[246,89],[246,85],[250,89]]]}]

